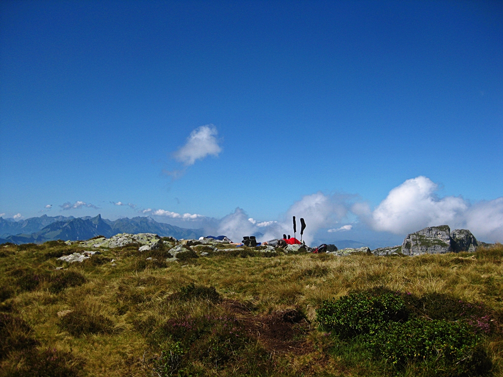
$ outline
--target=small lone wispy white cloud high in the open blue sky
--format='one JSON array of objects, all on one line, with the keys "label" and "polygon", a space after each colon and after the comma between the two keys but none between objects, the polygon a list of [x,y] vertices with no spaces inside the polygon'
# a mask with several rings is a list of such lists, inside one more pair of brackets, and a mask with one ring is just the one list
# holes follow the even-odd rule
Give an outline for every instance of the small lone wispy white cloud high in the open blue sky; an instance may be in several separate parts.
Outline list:
[{"label": "small lone wispy white cloud high in the open blue sky", "polygon": [[175,152],[175,159],[188,166],[208,155],[218,156],[222,148],[218,145],[217,134],[216,127],[211,124],[196,128],[187,138],[187,143]]}]

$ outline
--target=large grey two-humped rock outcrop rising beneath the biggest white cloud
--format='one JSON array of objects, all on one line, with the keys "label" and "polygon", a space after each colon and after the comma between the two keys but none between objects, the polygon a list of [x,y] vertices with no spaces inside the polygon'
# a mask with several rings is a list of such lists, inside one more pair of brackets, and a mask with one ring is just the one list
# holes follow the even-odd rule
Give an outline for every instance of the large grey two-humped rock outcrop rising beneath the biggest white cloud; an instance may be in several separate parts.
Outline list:
[{"label": "large grey two-humped rock outcrop rising beneath the biggest white cloud", "polygon": [[466,229],[452,231],[447,225],[428,227],[418,232],[408,234],[402,243],[402,254],[445,254],[448,252],[474,252],[477,240]]}]

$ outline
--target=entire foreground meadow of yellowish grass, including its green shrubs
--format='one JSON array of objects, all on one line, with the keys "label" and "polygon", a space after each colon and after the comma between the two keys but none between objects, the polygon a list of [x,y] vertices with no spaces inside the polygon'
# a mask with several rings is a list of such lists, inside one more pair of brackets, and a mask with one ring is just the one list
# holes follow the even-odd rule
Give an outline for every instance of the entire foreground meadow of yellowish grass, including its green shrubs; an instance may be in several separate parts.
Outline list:
[{"label": "entire foreground meadow of yellowish grass, including its green shrubs", "polygon": [[178,261],[138,246],[68,264],[78,245],[0,245],[0,376],[503,375],[501,244]]}]

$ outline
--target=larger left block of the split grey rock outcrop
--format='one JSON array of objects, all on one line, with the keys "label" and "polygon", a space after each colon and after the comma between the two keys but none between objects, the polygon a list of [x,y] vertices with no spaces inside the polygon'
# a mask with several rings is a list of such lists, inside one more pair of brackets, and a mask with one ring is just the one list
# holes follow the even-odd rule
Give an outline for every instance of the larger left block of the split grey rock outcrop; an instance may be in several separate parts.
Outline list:
[{"label": "larger left block of the split grey rock outcrop", "polygon": [[402,254],[445,254],[452,251],[451,229],[448,225],[428,227],[410,233],[402,243]]}]

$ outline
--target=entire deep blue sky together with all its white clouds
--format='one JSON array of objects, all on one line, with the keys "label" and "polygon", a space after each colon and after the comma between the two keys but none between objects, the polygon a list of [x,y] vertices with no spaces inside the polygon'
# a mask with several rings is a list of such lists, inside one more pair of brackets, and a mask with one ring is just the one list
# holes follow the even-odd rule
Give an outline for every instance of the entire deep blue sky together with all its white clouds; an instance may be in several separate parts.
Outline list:
[{"label": "entire deep blue sky together with all its white clouds", "polygon": [[503,241],[501,145],[501,2],[0,4],[4,218]]}]

